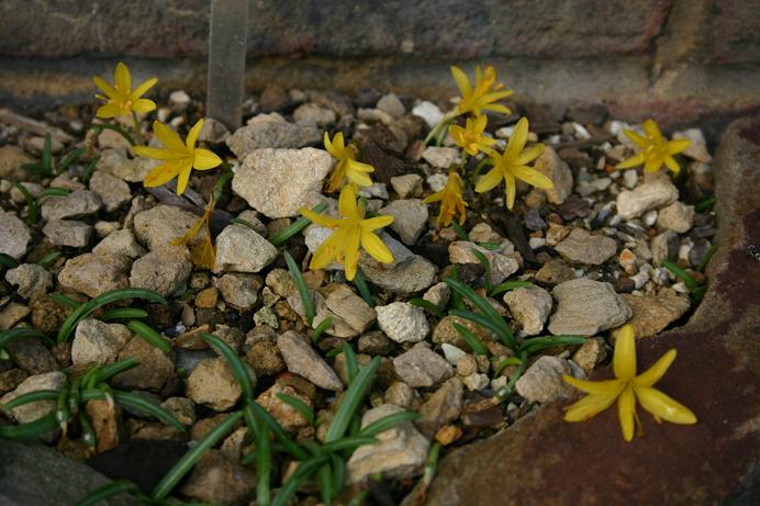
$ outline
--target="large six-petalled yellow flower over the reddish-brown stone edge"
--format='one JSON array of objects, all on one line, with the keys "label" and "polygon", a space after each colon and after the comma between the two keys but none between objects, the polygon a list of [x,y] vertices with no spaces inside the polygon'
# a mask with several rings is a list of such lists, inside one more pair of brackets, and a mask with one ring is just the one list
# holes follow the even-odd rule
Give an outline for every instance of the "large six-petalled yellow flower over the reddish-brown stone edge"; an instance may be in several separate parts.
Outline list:
[{"label": "large six-petalled yellow flower over the reddish-brown stone edge", "polygon": [[588,393],[585,397],[567,408],[566,421],[584,421],[602,413],[617,401],[617,414],[623,429],[623,439],[634,438],[634,425],[641,434],[641,421],[636,413],[636,400],[646,411],[652,414],[659,424],[661,419],[673,424],[696,424],[696,416],[686,406],[675,402],[652,385],[664,375],[675,360],[675,350],[671,349],[642,374],[636,375],[636,338],[633,325],[625,325],[615,344],[613,370],[615,380],[585,381],[572,376],[562,376],[575,389]]}]

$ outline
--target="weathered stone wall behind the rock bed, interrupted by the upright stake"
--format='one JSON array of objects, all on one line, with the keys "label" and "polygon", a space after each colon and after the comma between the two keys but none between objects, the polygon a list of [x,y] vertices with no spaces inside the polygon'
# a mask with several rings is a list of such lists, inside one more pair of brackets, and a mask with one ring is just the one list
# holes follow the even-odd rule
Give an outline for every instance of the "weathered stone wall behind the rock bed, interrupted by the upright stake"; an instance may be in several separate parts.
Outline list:
[{"label": "weathered stone wall behind the rock bed, interrupted by the upright stake", "polygon": [[[248,90],[455,93],[450,64],[492,64],[518,102],[603,104],[711,127],[760,109],[760,0],[250,0]],[[118,60],[205,86],[208,0],[2,0],[0,102],[89,101]]]}]

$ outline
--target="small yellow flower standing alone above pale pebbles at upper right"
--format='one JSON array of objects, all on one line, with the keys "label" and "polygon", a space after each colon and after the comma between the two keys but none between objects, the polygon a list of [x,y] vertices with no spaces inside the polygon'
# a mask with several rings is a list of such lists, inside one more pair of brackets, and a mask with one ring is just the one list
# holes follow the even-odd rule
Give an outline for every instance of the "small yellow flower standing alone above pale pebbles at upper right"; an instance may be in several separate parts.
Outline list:
[{"label": "small yellow flower standing alone above pale pebbles at upper right", "polygon": [[615,166],[616,169],[627,169],[644,164],[644,170],[647,172],[656,172],[660,170],[664,164],[670,170],[678,173],[681,170],[679,162],[675,161],[673,155],[677,155],[689,147],[691,140],[680,138],[675,140],[666,140],[662,137],[660,127],[657,126],[653,120],[644,122],[644,133],[646,137],[632,130],[625,130],[625,136],[634,144],[641,148],[641,151],[622,161]]}]

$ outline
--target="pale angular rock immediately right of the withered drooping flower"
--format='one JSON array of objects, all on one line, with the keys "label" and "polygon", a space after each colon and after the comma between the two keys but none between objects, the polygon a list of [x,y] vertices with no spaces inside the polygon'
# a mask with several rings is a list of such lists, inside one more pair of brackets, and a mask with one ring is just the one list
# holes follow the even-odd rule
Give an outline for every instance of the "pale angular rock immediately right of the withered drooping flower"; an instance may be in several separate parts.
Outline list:
[{"label": "pale angular rock immediately right of the withered drooping flower", "polygon": [[216,237],[214,272],[258,272],[277,258],[267,239],[243,225],[227,225]]}]

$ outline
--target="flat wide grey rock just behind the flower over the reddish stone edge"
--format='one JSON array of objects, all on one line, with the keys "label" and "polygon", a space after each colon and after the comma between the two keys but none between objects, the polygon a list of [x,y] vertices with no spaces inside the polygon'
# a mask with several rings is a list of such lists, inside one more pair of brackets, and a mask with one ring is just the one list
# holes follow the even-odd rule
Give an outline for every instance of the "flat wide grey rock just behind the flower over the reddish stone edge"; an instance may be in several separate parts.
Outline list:
[{"label": "flat wide grey rock just behind the flower over the reddish stone edge", "polygon": [[557,300],[549,321],[554,335],[593,336],[623,325],[633,315],[610,283],[580,278],[558,284],[551,293]]}]

